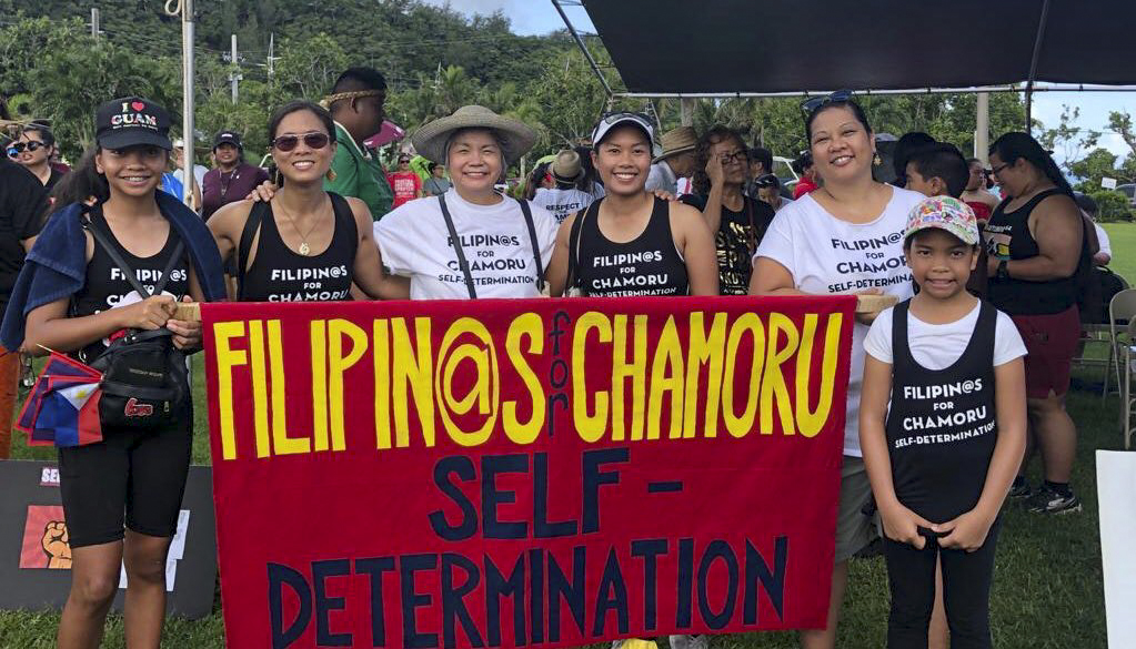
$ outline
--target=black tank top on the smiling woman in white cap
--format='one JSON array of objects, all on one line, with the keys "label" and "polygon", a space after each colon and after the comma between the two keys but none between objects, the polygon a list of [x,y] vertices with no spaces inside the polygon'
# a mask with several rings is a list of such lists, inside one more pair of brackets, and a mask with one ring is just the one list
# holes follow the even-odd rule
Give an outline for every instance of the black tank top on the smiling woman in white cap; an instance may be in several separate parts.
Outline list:
[{"label": "black tank top on the smiling woman in white cap", "polygon": [[600,231],[600,204],[582,216],[577,273],[584,295],[687,295],[686,262],[670,233],[670,203],[654,199],[646,228],[634,241],[615,243]]}]

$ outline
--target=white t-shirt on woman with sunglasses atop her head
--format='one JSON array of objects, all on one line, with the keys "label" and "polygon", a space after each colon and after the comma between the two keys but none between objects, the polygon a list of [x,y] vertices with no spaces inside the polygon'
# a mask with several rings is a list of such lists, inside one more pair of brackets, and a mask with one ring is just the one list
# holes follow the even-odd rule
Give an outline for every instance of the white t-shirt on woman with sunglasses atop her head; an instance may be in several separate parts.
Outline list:
[{"label": "white t-shirt on woman with sunglasses atop her head", "polygon": [[[884,212],[867,224],[850,224],[828,213],[805,194],[777,211],[757,258],[784,266],[797,290],[825,295],[879,288],[903,301],[911,297],[911,269],[903,256],[908,212],[925,196],[892,187]],[[860,388],[863,384],[863,338],[868,327],[852,327],[844,454],[860,457]]]}]

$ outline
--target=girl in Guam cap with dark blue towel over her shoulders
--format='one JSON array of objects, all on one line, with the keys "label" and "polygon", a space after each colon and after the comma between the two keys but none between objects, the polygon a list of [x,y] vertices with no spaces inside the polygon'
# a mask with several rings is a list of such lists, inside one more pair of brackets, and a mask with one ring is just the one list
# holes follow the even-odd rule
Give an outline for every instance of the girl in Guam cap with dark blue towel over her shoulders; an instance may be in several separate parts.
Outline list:
[{"label": "girl in Guam cap with dark blue towel over her shoulders", "polygon": [[[51,217],[18,280],[30,287],[22,294],[24,303],[8,310],[12,318],[26,313],[23,340],[16,340],[23,351],[50,348],[92,361],[125,331],[158,330],[158,340],[162,328],[183,352],[200,348],[201,323],[172,315],[182,296],[223,297],[220,260],[200,217],[158,192],[172,149],[168,125],[168,113],[141,98],[99,108],[95,151],[74,172],[73,188],[80,189],[82,203]],[[72,270],[83,275],[81,280]],[[140,297],[128,272],[142,292],[156,295]],[[62,296],[47,302],[56,295]],[[5,342],[12,344],[8,324]],[[181,354],[167,353],[166,359],[184,363]],[[177,371],[184,366],[169,369]],[[105,389],[100,405],[118,403]],[[166,558],[193,433],[190,399],[183,397],[173,407],[183,410],[174,412],[169,423],[152,428],[128,427],[117,411],[100,408],[101,440],[58,448],[72,572],[59,623],[61,648],[99,642],[123,565],[128,580],[126,635],[148,647],[161,640]]]}]

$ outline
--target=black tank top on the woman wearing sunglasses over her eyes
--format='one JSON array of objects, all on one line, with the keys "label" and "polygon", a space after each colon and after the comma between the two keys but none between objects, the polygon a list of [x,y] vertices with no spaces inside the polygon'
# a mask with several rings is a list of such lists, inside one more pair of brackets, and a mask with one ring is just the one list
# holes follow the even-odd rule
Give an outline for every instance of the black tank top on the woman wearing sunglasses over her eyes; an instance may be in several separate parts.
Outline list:
[{"label": "black tank top on the woman wearing sunglasses over her eyes", "polygon": [[[304,256],[284,245],[273,204],[258,203],[260,239],[257,256],[244,272],[237,300],[241,302],[334,302],[351,300],[354,256],[359,251],[359,229],[351,205],[328,192],[335,216],[332,243],[320,254]],[[260,208],[259,205],[264,205]],[[252,214],[250,214],[252,218]],[[243,256],[240,263],[244,263]]]}]

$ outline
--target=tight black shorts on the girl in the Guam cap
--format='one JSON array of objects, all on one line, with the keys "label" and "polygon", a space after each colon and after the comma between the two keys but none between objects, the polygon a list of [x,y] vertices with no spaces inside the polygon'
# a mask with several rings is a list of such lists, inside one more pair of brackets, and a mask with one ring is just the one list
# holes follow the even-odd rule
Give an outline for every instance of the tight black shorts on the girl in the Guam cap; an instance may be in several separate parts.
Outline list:
[{"label": "tight black shorts on the girl in the Guam cap", "polygon": [[173,537],[193,447],[193,412],[152,432],[103,431],[103,440],[59,449],[59,489],[70,547],[135,532]]}]

